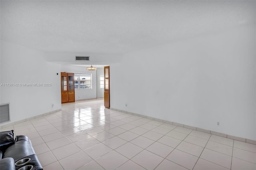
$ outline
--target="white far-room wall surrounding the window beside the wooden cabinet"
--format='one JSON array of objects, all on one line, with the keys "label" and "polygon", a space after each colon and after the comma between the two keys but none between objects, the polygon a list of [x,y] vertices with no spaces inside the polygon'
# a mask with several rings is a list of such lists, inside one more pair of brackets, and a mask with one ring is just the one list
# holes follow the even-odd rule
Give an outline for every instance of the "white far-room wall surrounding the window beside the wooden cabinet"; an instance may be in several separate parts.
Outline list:
[{"label": "white far-room wall surrounding the window beside the wooden cabinet", "polygon": [[88,71],[86,67],[61,65],[61,72],[67,73],[91,73],[92,74],[92,89],[75,89],[75,99],[93,99],[97,97],[97,73],[96,71]]}]

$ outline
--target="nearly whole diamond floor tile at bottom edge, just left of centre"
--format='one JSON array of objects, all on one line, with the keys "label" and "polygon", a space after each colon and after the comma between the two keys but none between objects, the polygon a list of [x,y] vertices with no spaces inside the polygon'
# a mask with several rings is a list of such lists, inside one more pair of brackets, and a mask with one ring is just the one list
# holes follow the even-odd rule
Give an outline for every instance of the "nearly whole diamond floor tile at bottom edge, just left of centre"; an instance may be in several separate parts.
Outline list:
[{"label": "nearly whole diamond floor tile at bottom edge, just left of centre", "polygon": [[114,170],[128,161],[128,159],[113,150],[95,161],[106,170]]}]

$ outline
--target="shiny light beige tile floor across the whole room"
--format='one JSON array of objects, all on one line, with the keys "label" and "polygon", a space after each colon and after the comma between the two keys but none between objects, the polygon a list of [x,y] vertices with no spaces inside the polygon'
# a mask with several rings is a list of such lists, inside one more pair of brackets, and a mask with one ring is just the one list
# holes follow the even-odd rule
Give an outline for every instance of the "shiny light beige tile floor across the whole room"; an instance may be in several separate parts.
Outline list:
[{"label": "shiny light beige tile floor across the whole room", "polygon": [[104,108],[103,100],[8,128],[32,141],[44,170],[256,170],[256,145]]}]

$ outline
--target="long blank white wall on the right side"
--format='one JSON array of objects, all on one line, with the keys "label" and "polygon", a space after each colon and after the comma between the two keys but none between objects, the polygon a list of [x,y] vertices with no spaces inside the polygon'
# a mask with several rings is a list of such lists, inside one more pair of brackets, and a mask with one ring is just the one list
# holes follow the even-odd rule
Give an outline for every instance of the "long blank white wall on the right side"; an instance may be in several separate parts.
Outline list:
[{"label": "long blank white wall on the right side", "polygon": [[127,53],[110,65],[110,107],[256,140],[255,30]]}]

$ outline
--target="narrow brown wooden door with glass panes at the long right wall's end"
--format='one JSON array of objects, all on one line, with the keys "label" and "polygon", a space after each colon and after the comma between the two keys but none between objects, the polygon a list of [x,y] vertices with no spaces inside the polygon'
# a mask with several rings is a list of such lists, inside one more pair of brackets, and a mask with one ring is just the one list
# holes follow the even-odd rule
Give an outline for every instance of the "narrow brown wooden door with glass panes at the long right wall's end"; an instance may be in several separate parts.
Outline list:
[{"label": "narrow brown wooden door with glass panes at the long right wall's end", "polygon": [[110,108],[109,66],[104,67],[104,106]]}]

